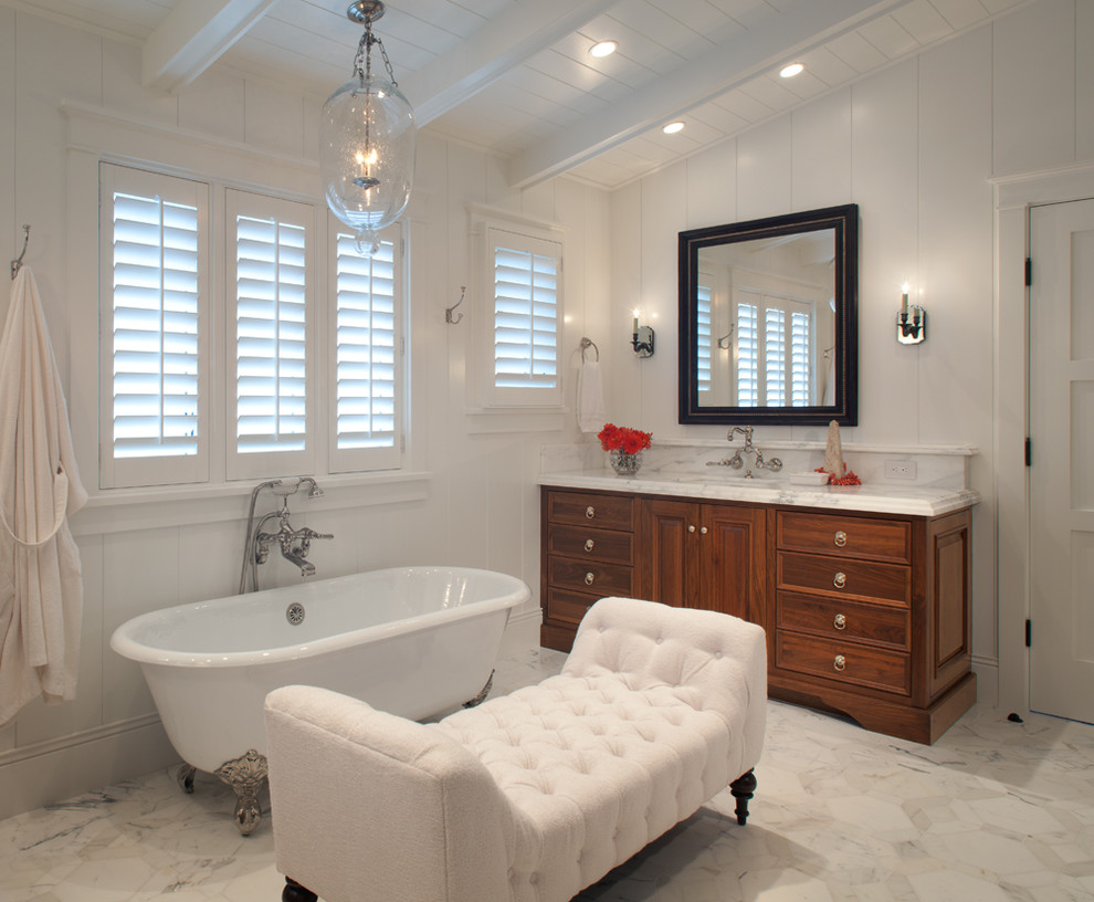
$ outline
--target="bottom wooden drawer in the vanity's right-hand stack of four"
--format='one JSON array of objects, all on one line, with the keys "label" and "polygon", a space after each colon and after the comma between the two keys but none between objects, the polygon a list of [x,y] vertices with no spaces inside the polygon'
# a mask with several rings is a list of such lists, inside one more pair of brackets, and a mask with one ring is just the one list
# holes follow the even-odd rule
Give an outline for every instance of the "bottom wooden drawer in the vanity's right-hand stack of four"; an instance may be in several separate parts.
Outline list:
[{"label": "bottom wooden drawer in the vanity's right-hand stack of four", "polygon": [[912,694],[911,658],[902,652],[779,631],[775,638],[775,658],[782,670]]}]

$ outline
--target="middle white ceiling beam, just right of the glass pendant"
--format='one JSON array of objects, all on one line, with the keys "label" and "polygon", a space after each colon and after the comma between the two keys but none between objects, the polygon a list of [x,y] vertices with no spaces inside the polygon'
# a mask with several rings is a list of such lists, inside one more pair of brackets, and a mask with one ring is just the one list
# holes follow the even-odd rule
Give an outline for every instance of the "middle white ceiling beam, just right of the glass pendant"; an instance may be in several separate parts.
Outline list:
[{"label": "middle white ceiling beam, just right of the glass pendant", "polygon": [[400,87],[422,127],[488,87],[514,66],[596,19],[617,0],[522,0]]}]

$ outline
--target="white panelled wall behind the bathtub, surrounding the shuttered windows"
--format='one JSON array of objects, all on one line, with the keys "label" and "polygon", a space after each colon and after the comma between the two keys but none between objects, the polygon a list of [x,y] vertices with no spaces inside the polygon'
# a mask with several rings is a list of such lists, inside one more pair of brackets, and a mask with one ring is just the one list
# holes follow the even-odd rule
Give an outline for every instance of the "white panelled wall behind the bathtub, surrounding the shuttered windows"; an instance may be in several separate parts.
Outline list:
[{"label": "white panelled wall behind the bathtub, surrounding the shuttered windows", "polygon": [[[155,164],[162,160],[148,148],[162,148],[166,140],[167,156],[183,169],[200,171],[210,161],[231,169],[242,161],[260,185],[307,191],[323,99],[223,69],[169,95],[141,88],[139,71],[135,44],[0,7],[0,245],[15,248],[21,224],[32,224],[27,261],[42,290],[81,442],[82,475],[92,486],[97,390],[95,373],[85,370],[96,356],[97,188],[90,151],[108,146],[120,157]],[[77,135],[82,146],[67,148]],[[252,150],[260,155],[253,161]],[[317,189],[317,176],[314,182]],[[564,353],[574,350],[565,359],[572,396],[578,340],[597,322],[608,292],[609,197],[574,181],[512,191],[494,158],[423,136],[410,216],[409,439],[411,468],[422,475],[359,485],[320,475],[324,499],[293,499],[294,523],[336,536],[313,546],[322,576],[451,563],[516,574],[538,595],[535,476],[545,433],[539,423],[498,432],[492,422],[495,431],[484,431],[481,418],[467,416],[465,374],[481,308],[473,290],[463,323],[444,323],[444,308],[455,303],[460,286],[473,284],[467,203],[554,220],[567,230],[572,254],[562,342]],[[7,297],[0,298],[0,315],[7,306]],[[570,412],[551,420],[548,440],[576,438],[572,419]],[[139,669],[107,643],[137,613],[234,592],[249,487],[165,493],[154,504],[98,499],[73,518],[85,585],[78,696],[57,706],[32,704],[14,725],[0,728],[0,818],[175,758]],[[264,586],[299,578],[281,560],[261,570]],[[533,644],[538,599],[523,615],[509,641]]]}]

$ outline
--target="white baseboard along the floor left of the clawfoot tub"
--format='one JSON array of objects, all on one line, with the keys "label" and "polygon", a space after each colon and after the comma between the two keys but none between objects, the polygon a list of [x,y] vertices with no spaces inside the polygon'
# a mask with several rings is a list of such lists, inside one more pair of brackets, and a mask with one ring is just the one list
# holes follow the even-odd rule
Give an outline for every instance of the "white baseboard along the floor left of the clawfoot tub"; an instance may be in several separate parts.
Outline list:
[{"label": "white baseboard along the floor left of the clawfoot tub", "polygon": [[178,762],[159,717],[138,717],[0,755],[0,820]]}]

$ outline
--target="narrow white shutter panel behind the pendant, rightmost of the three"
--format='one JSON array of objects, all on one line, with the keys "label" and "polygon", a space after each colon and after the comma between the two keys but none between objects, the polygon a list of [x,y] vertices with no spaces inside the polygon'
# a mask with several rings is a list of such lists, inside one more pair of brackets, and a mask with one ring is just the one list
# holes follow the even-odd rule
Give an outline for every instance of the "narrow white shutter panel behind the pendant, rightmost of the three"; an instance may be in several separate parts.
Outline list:
[{"label": "narrow white shutter panel behind the pendant, rightmost of the three", "polygon": [[399,433],[399,261],[395,240],[365,258],[351,234],[335,254],[334,434],[330,471],[395,469]]}]

